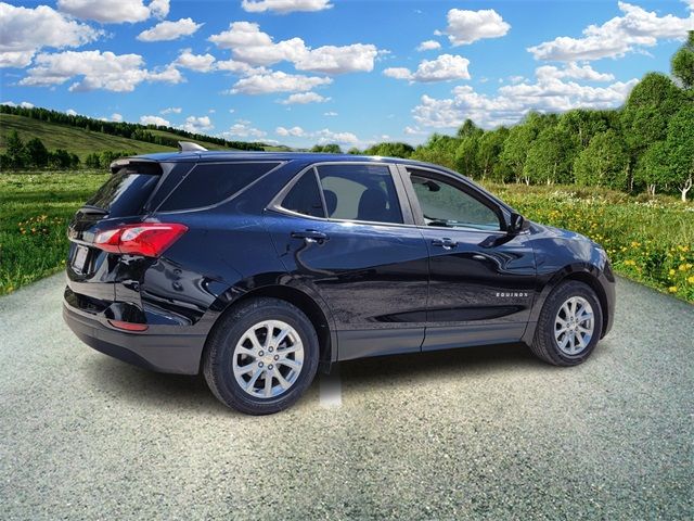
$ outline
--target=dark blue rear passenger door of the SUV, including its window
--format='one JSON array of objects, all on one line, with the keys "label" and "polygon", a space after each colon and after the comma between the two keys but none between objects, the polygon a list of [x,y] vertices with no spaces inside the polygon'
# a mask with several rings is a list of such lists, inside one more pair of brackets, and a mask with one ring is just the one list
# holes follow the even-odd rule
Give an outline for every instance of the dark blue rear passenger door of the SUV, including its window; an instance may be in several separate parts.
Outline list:
[{"label": "dark blue rear passenger door of the SUV, including its window", "polygon": [[428,250],[404,198],[395,165],[327,163],[266,213],[287,271],[331,309],[340,360],[421,348]]}]

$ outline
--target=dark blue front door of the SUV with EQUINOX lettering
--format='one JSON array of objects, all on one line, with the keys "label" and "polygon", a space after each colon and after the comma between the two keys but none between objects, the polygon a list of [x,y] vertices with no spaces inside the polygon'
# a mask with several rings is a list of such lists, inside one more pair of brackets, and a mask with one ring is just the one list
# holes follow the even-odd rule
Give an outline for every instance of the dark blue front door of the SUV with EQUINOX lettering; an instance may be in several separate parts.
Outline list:
[{"label": "dark blue front door of the SUV with EQUINOX lettering", "polygon": [[422,350],[518,341],[535,297],[535,255],[507,211],[462,177],[401,166],[429,251]]}]

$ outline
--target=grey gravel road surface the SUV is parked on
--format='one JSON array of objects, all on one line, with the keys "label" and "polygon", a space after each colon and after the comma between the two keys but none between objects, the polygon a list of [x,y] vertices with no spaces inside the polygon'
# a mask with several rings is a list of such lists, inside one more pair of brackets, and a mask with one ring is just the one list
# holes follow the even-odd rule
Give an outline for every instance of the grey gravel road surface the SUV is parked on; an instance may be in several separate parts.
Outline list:
[{"label": "grey gravel road surface the SUV is parked on", "polygon": [[262,418],[81,344],[63,276],[0,298],[0,518],[692,519],[694,306],[620,280],[584,365],[519,345],[343,364]]}]

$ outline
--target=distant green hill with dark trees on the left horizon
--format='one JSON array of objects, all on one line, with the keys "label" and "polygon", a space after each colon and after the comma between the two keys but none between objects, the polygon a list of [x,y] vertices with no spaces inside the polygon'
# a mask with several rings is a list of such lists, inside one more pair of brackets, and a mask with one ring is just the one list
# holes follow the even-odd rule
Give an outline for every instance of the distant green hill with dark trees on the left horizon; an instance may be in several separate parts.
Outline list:
[{"label": "distant green hill with dark trees on the left horizon", "polygon": [[5,150],[7,136],[13,130],[24,141],[39,138],[49,150],[64,149],[82,161],[92,152],[175,151],[178,141],[192,141],[208,150],[291,150],[261,142],[228,141],[172,127],[102,122],[48,109],[0,105],[0,154]]}]

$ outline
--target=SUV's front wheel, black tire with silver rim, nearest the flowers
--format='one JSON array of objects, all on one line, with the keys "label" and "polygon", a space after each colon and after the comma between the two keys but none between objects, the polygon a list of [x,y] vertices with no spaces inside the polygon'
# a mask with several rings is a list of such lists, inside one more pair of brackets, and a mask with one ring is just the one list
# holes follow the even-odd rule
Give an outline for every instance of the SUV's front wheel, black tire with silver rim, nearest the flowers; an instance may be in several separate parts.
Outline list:
[{"label": "SUV's front wheel, black tire with silver rim, nearest the flowers", "polygon": [[593,352],[602,327],[595,292],[582,282],[567,281],[544,302],[530,351],[549,364],[576,366]]}]

